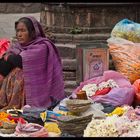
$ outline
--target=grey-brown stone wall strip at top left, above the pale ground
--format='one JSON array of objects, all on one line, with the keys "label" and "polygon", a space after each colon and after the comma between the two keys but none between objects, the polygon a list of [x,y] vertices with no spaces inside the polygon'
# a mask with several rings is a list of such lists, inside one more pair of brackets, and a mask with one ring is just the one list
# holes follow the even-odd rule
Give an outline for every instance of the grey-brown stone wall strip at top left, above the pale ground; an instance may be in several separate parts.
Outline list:
[{"label": "grey-brown stone wall strip at top left, above the pale ground", "polygon": [[37,13],[41,3],[0,3],[0,13]]}]

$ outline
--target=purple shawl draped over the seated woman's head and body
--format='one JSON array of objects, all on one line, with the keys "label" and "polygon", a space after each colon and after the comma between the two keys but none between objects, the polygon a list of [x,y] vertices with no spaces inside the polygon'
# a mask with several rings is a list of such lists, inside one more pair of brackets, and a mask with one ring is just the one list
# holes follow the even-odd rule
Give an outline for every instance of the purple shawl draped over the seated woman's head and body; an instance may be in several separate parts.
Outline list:
[{"label": "purple shawl draped over the seated woman's head and body", "polygon": [[22,56],[26,104],[48,107],[50,96],[57,100],[65,97],[61,59],[55,45],[45,37],[40,23],[33,17],[27,18],[35,27],[36,39],[25,46],[17,43],[8,52]]}]

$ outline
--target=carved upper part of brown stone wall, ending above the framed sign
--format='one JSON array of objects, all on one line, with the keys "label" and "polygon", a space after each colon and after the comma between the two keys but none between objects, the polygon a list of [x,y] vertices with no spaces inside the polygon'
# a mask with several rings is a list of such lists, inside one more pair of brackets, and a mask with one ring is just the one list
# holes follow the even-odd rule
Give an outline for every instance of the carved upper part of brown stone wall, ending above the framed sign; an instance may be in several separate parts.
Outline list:
[{"label": "carved upper part of brown stone wall, ending above the framed sign", "polygon": [[[56,41],[106,40],[114,25],[124,19],[139,22],[140,4],[42,4],[41,23],[55,33]],[[76,33],[76,30],[79,31]],[[76,35],[75,35],[76,34]]]}]

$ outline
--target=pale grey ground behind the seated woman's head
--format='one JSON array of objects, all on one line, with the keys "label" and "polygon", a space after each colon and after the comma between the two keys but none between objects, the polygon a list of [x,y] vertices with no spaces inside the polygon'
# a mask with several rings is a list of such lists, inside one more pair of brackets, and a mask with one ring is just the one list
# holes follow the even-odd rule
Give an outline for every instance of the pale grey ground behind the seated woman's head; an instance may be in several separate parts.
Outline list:
[{"label": "pale grey ground behind the seated woman's head", "polygon": [[40,21],[40,13],[0,14],[0,38],[11,38],[15,36],[15,21],[28,15],[34,16],[38,21]]}]

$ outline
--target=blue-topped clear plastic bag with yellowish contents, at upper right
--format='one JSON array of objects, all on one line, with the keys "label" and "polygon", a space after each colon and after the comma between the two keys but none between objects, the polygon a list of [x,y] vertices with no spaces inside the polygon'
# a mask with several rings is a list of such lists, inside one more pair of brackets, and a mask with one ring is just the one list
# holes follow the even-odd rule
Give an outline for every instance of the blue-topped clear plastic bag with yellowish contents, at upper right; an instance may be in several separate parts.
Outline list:
[{"label": "blue-topped clear plastic bag with yellowish contents, at upper right", "polygon": [[129,41],[140,42],[140,24],[128,19],[118,22],[111,32],[112,37],[121,37]]}]

